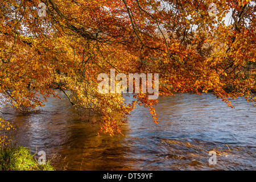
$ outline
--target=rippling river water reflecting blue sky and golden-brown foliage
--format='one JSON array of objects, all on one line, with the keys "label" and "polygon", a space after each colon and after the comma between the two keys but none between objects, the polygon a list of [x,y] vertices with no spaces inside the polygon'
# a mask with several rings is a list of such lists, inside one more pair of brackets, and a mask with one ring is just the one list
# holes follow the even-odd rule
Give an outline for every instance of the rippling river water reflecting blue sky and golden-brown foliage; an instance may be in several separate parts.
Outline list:
[{"label": "rippling river water reflecting blue sky and golden-brown foliage", "polygon": [[[256,107],[244,98],[232,101],[234,109],[210,93],[159,98],[157,125],[147,108],[137,106],[123,136],[109,137],[98,136],[59,96],[63,100],[49,98],[39,113],[0,115],[16,128],[16,143],[31,148],[37,159],[36,152],[45,151],[57,170],[256,169]],[[6,106],[2,111],[11,113]],[[209,151],[216,152],[216,164],[209,163]]]}]

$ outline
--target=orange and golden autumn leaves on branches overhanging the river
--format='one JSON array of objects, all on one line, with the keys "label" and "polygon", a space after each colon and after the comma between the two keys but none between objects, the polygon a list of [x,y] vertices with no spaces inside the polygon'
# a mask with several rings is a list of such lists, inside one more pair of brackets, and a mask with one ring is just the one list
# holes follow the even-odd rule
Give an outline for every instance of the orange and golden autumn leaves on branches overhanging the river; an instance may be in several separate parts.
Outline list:
[{"label": "orange and golden autumn leaves on branches overhanging the river", "polygon": [[98,93],[97,76],[110,69],[159,73],[159,96],[211,91],[228,106],[230,98],[255,101],[255,2],[1,0],[2,102],[30,112],[58,97],[57,88],[113,135],[135,105],[149,107],[157,123],[158,100],[138,93],[125,104],[121,94]]}]

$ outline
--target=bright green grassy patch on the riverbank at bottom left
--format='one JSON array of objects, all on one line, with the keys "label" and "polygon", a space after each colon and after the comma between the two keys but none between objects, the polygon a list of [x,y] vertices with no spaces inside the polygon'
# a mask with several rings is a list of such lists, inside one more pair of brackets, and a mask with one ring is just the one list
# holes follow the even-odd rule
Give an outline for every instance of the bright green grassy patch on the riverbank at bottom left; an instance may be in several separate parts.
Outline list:
[{"label": "bright green grassy patch on the riverbank at bottom left", "polygon": [[0,171],[55,171],[49,164],[38,164],[26,147],[0,148]]}]

